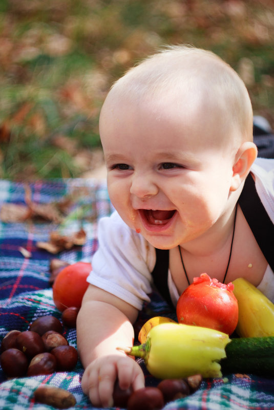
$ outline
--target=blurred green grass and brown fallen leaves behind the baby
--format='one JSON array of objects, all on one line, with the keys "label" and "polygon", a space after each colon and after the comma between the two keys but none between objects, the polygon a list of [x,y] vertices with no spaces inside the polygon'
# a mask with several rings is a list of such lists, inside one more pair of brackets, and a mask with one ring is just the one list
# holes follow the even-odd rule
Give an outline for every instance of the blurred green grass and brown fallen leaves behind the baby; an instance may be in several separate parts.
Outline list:
[{"label": "blurred green grass and brown fallen leaves behind the baby", "polygon": [[273,0],[1,0],[0,178],[87,176],[113,81],[181,43],[230,63],[274,128]]}]

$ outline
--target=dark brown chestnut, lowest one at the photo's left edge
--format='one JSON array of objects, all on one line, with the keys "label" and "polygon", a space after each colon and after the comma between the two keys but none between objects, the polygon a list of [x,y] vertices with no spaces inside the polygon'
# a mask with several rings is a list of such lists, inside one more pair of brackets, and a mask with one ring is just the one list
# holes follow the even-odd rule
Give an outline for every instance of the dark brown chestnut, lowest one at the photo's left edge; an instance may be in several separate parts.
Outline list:
[{"label": "dark brown chestnut, lowest one at the photo's left edge", "polygon": [[25,376],[29,365],[26,355],[20,350],[13,348],[2,353],[0,363],[8,377]]}]

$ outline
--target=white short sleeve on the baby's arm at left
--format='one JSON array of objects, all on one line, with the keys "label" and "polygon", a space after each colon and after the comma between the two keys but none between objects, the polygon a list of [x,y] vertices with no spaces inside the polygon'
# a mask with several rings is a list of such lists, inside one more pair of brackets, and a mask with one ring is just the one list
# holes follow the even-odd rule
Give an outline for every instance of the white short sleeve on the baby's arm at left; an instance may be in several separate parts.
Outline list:
[{"label": "white short sleeve on the baby's arm at left", "polygon": [[143,302],[150,301],[155,248],[116,211],[99,221],[98,241],[88,282],[141,310]]}]

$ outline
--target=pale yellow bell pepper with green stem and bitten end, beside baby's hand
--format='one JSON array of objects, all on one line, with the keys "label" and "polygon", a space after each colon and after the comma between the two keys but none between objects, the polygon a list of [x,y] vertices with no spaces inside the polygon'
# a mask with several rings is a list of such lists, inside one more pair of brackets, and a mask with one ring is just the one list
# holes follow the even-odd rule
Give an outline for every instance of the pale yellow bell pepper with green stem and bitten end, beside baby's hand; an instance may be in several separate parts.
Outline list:
[{"label": "pale yellow bell pepper with green stem and bitten end, beside baby's hand", "polygon": [[117,348],[142,357],[147,370],[157,378],[176,379],[201,374],[221,377],[219,361],[226,357],[227,334],[181,323],[161,323],[147,334],[146,342],[132,348]]}]

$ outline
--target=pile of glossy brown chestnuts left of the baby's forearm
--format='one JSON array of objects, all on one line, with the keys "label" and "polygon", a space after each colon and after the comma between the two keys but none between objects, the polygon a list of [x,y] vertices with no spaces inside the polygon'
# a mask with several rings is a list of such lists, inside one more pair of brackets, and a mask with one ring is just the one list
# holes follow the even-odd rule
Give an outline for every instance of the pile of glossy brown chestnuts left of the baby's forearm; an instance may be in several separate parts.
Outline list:
[{"label": "pile of glossy brown chestnuts left of the baby's forearm", "polygon": [[[62,312],[62,322],[76,327],[77,308]],[[47,315],[34,320],[29,330],[11,330],[1,344],[0,363],[7,377],[24,377],[72,371],[78,361],[77,350],[62,336],[62,323]]]}]

